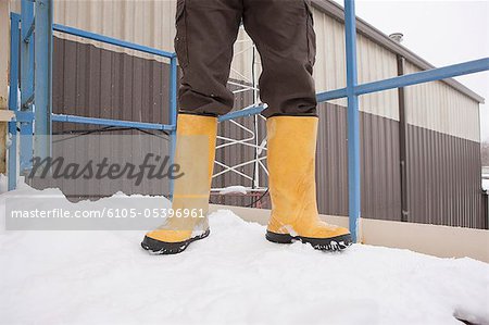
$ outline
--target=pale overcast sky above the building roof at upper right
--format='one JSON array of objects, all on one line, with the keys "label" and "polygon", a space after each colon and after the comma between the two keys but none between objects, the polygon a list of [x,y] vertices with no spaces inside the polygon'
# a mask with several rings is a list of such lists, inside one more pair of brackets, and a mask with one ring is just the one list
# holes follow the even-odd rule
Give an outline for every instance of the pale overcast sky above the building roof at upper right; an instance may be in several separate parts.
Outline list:
[{"label": "pale overcast sky above the building roof at upper right", "polygon": [[[404,34],[402,45],[435,66],[489,57],[489,0],[355,3],[356,16],[385,34]],[[489,72],[456,79],[486,99],[480,105],[480,132],[481,139],[489,141]]]}]

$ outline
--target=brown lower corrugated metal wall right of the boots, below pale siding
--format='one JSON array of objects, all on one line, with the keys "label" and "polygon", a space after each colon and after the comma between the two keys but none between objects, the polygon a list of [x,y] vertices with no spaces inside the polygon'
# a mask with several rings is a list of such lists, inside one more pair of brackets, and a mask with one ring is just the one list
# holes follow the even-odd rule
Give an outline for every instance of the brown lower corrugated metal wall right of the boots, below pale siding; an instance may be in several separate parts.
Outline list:
[{"label": "brown lower corrugated metal wall right of the boots, below pale siding", "polygon": [[[317,201],[348,215],[347,110],[322,104]],[[401,221],[399,122],[361,113],[362,216]],[[408,126],[408,221],[486,228],[478,142]]]}]

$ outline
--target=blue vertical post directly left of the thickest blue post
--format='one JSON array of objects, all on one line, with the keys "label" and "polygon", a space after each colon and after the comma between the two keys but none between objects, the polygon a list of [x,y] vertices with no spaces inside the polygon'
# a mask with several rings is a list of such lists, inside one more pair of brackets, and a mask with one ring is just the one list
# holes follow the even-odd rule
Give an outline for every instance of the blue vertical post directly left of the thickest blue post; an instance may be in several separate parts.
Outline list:
[{"label": "blue vertical post directly left of the thickest blue post", "polygon": [[[22,0],[21,8],[21,110],[32,111],[34,99],[34,2]],[[33,122],[21,122],[21,174],[30,168]]]}]

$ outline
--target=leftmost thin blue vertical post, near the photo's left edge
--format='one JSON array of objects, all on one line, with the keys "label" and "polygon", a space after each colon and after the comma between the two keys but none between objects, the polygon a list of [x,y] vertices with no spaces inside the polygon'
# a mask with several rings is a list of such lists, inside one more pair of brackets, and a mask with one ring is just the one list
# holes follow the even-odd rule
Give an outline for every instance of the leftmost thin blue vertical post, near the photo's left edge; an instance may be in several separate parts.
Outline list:
[{"label": "leftmost thin blue vertical post, near the photo's left edge", "polygon": [[[9,110],[17,111],[17,87],[18,87],[18,30],[20,20],[17,15],[10,17],[10,92]],[[12,136],[12,142],[9,148],[9,190],[14,190],[17,186],[17,123],[9,122],[9,134]]]}]

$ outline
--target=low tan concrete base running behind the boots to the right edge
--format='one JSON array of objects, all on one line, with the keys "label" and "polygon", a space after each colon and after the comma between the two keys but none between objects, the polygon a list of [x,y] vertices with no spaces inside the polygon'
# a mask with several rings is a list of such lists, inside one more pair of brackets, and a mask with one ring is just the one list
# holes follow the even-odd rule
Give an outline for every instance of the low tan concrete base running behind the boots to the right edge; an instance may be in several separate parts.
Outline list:
[{"label": "low tan concrete base running behind the boots to the right edge", "polygon": [[[269,210],[211,205],[210,211],[231,210],[241,218],[266,225]],[[321,215],[331,224],[348,227],[348,217]],[[363,218],[362,243],[409,249],[439,258],[472,258],[489,263],[489,230]]]}]

